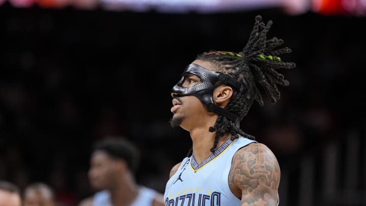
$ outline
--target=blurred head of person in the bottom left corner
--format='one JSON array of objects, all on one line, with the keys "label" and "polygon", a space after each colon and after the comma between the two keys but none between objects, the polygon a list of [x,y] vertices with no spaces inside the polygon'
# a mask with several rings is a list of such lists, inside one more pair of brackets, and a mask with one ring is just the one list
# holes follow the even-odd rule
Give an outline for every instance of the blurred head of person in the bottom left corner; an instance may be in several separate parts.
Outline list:
[{"label": "blurred head of person in the bottom left corner", "polygon": [[0,206],[21,206],[19,188],[16,185],[0,181]]}]

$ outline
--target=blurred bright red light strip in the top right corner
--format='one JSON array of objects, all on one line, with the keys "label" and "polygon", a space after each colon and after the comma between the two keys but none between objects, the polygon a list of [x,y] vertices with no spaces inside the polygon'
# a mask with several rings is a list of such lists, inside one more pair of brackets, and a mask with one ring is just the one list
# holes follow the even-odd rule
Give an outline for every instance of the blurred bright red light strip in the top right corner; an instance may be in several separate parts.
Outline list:
[{"label": "blurred bright red light strip in the top right corner", "polygon": [[366,15],[366,0],[313,0],[313,11],[324,14]]}]

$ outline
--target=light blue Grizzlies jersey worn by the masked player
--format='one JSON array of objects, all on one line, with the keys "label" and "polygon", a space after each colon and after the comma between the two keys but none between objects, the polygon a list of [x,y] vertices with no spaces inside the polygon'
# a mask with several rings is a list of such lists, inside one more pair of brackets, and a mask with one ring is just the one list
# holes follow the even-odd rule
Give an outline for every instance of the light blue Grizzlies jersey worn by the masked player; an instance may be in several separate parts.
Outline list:
[{"label": "light blue Grizzlies jersey worn by the masked player", "polygon": [[235,153],[254,140],[228,139],[198,164],[186,157],[169,179],[164,193],[165,206],[237,206],[240,199],[230,190],[228,176]]}]

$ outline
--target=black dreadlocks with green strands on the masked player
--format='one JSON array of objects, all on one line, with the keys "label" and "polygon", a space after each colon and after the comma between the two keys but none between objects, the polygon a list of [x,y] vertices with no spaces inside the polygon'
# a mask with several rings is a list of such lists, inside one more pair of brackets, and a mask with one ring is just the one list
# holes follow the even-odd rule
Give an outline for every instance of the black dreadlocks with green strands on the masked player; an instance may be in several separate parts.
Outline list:
[{"label": "black dreadlocks with green strands on the masked player", "polygon": [[[196,58],[196,60],[211,63],[219,72],[228,74],[236,78],[239,82],[247,84],[248,92],[240,93],[234,90],[229,104],[225,107],[229,112],[238,115],[239,120],[242,120],[247,115],[254,100],[263,106],[263,98],[257,85],[263,87],[272,104],[275,104],[280,99],[277,84],[283,86],[289,85],[289,82],[276,69],[290,69],[295,67],[294,63],[282,62],[279,57],[283,53],[290,53],[291,49],[287,47],[277,49],[277,47],[284,43],[282,39],[274,37],[267,40],[266,35],[271,25],[272,21],[264,24],[262,17],[258,15],[255,18],[255,24],[249,41],[241,52],[209,51],[198,55]],[[217,148],[219,138],[226,133],[233,135],[231,137],[232,140],[238,138],[239,135],[249,139],[255,139],[254,136],[243,132],[239,128],[239,125],[236,125],[223,115],[219,115],[215,125],[209,127],[209,132],[215,131],[214,145],[210,149],[212,153]],[[191,155],[192,149],[189,151],[188,157]]]}]

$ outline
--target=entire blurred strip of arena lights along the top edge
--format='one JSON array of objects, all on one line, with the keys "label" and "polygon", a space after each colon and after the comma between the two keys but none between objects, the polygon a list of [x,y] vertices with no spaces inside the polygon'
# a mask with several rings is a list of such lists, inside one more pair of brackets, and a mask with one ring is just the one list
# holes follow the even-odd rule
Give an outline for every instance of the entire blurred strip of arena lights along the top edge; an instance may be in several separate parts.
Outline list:
[{"label": "entire blurred strip of arena lights along the top edge", "polygon": [[217,13],[278,8],[289,15],[309,11],[323,15],[366,14],[366,0],[0,0],[13,7],[26,8],[38,5],[41,8],[64,8],[93,10],[102,8],[113,11],[161,13]]}]

